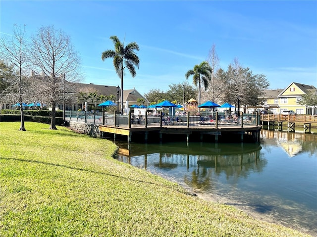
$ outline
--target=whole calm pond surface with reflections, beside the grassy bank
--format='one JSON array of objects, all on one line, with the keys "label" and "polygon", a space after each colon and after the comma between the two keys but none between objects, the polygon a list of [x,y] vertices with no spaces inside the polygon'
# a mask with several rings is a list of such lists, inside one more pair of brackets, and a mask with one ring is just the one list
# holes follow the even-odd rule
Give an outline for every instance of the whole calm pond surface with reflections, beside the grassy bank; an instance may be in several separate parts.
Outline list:
[{"label": "whole calm pond surface with reflections, beside the grassy bank", "polygon": [[118,160],[317,236],[317,134],[262,130],[257,144],[115,142]]}]

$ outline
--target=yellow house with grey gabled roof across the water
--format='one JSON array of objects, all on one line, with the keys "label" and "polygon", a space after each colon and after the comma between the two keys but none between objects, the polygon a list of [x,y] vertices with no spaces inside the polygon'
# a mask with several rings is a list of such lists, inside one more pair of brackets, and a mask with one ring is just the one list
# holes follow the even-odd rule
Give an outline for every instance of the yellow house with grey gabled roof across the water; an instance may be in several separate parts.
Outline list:
[{"label": "yellow house with grey gabled roof across the water", "polygon": [[302,99],[308,90],[316,89],[313,85],[305,85],[301,83],[292,82],[287,86],[278,96],[279,113],[284,110],[293,110],[298,115],[312,115],[316,108],[300,105],[298,102]]}]

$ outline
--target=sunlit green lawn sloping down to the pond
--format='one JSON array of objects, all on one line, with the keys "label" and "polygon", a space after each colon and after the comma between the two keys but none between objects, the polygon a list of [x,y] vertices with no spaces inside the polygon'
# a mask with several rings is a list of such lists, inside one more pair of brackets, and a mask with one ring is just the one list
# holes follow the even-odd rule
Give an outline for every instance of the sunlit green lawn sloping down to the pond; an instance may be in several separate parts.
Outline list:
[{"label": "sunlit green lawn sloping down to the pond", "polygon": [[112,158],[108,140],[0,122],[0,236],[301,237]]}]

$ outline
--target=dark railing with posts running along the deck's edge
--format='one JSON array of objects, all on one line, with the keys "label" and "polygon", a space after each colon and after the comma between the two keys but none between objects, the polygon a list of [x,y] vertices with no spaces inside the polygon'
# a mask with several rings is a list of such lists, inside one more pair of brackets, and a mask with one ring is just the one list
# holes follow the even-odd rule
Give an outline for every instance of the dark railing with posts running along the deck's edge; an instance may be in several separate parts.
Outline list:
[{"label": "dark railing with posts running along the deck's edge", "polygon": [[105,112],[65,111],[68,121],[82,121],[109,126],[150,127],[150,126],[181,126],[181,127],[243,127],[260,125],[257,114],[234,115],[128,115],[108,114]]}]

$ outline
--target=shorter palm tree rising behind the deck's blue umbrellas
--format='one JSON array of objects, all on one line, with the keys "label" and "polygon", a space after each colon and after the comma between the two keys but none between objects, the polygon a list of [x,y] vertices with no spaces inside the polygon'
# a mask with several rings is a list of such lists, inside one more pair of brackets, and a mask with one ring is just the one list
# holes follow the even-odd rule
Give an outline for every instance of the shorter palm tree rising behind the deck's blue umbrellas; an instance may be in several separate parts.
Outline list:
[{"label": "shorter palm tree rising behind the deck's blue umbrellas", "polygon": [[193,83],[197,86],[198,84],[198,104],[200,105],[200,90],[201,84],[204,85],[205,90],[208,88],[210,75],[212,69],[207,61],[202,62],[199,65],[195,65],[194,69],[188,70],[185,74],[185,78],[188,79],[189,76],[193,75]]}]

